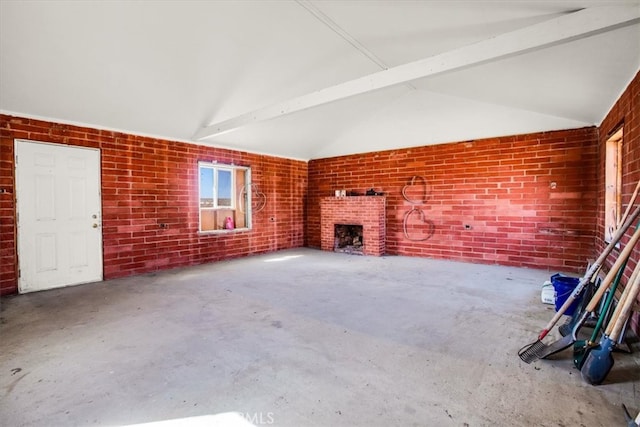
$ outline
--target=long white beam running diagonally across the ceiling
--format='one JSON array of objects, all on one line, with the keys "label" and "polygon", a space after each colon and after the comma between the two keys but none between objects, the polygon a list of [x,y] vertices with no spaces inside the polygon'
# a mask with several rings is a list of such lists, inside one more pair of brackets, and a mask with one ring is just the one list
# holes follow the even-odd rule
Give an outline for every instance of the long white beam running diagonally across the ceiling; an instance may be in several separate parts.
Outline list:
[{"label": "long white beam running diagonally across the ceiling", "polygon": [[593,7],[509,33],[399,65],[287,101],[260,108],[201,128],[193,139],[203,140],[255,122],[273,119],[330,102],[412,80],[468,68],[523,53],[568,43],[640,22],[636,6]]}]

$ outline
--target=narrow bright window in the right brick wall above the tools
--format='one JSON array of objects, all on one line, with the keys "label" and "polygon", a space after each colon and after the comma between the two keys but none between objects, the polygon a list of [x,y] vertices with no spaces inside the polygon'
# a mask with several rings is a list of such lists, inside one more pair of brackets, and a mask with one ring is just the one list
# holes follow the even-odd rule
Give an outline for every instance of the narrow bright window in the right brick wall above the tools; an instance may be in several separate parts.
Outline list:
[{"label": "narrow bright window in the right brick wall above the tools", "polygon": [[604,196],[604,240],[611,242],[622,210],[622,128],[607,139]]}]

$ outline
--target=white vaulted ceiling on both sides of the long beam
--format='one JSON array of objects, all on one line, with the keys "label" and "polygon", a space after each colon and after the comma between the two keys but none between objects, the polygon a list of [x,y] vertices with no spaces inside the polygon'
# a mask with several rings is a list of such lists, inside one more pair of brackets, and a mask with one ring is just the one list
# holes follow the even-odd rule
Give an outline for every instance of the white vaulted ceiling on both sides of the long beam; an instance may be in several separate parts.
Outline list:
[{"label": "white vaulted ceiling on both sides of the long beam", "polygon": [[[590,24],[580,9],[611,6],[640,14],[640,0],[2,0],[0,111],[302,160],[598,125],[640,70],[640,23],[561,38]],[[558,42],[491,58],[527,27]],[[253,119],[449,54],[463,66]]]}]

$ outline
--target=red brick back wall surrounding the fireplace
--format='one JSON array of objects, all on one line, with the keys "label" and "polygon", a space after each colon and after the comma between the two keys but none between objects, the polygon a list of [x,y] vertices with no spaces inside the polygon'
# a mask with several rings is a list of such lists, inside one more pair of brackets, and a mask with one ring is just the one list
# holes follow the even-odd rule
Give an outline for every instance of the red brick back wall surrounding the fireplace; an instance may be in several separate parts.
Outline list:
[{"label": "red brick back wall surrounding the fireplace", "polygon": [[[374,188],[387,197],[388,254],[581,272],[594,247],[597,135],[591,127],[313,160],[308,245],[320,246],[322,197]],[[403,230],[412,205],[402,189],[413,176],[428,183],[420,207],[433,232],[419,242]]]}]

